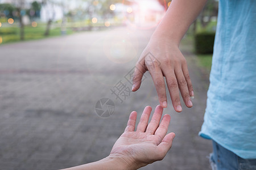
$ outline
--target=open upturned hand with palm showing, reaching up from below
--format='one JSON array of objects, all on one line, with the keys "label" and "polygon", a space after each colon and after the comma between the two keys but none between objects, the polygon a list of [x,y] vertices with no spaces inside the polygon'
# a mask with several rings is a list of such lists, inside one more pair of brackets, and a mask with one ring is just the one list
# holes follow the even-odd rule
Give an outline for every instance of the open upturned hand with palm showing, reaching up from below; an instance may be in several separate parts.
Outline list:
[{"label": "open upturned hand with palm showing, reaching up from below", "polygon": [[136,131],[137,113],[131,112],[125,132],[115,142],[110,156],[118,155],[131,167],[135,166],[134,169],[162,160],[166,156],[175,137],[174,133],[166,134],[171,117],[166,114],[160,122],[163,108],[158,105],[148,124],[151,111],[149,106],[144,109]]}]

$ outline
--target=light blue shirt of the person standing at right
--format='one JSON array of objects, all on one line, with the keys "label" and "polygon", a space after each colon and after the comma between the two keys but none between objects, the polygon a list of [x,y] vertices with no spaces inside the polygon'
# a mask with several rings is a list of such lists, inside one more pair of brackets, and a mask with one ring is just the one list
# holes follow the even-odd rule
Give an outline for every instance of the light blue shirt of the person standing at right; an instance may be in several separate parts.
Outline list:
[{"label": "light blue shirt of the person standing at right", "polygon": [[256,1],[220,0],[210,86],[199,135],[256,159]]}]

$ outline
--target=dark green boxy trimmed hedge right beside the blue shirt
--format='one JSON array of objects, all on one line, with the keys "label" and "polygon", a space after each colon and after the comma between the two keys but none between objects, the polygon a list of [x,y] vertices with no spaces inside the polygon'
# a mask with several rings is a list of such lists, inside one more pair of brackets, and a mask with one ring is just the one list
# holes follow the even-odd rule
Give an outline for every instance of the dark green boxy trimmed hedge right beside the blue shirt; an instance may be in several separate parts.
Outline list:
[{"label": "dark green boxy trimmed hedge right beside the blue shirt", "polygon": [[213,53],[214,32],[200,32],[195,35],[195,49],[197,54]]}]

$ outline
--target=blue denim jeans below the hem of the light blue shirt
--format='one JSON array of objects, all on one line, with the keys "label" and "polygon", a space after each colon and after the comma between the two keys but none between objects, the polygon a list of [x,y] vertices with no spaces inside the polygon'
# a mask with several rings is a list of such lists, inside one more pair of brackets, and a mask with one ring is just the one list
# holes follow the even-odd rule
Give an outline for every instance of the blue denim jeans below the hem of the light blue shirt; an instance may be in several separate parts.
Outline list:
[{"label": "blue denim jeans below the hem of the light blue shirt", "polygon": [[243,159],[213,141],[210,165],[213,170],[256,170],[256,159]]}]

